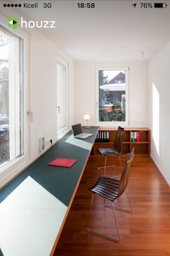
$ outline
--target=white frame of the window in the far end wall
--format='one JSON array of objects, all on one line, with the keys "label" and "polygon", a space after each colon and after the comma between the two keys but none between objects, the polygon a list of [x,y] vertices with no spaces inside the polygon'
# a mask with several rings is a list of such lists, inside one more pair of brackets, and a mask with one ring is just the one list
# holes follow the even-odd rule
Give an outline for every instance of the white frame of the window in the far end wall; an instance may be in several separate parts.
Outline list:
[{"label": "white frame of the window in the far end wall", "polygon": [[[125,110],[125,121],[99,121],[99,70],[104,71],[119,71],[119,70],[125,70],[125,95],[126,95],[126,110]],[[96,122],[97,125],[101,127],[118,127],[118,126],[128,126],[129,124],[129,67],[124,66],[112,66],[112,67],[96,67],[95,73],[96,73]]]}]

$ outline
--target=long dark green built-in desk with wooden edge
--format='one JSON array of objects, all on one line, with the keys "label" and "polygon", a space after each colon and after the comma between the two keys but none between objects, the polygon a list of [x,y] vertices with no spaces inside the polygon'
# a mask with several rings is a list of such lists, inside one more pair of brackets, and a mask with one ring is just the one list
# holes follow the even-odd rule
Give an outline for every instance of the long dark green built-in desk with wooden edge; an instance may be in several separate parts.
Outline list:
[{"label": "long dark green built-in desk with wooden edge", "polygon": [[[79,186],[94,135],[75,139],[68,132],[0,192],[0,253],[4,256],[48,256],[58,242]],[[55,158],[76,158],[71,168],[48,166]]]}]

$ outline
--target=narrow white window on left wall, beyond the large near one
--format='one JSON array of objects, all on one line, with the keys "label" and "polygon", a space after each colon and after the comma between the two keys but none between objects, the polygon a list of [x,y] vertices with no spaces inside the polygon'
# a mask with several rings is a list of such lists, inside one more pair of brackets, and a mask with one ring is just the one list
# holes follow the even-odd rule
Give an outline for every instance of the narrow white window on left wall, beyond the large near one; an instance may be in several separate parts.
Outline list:
[{"label": "narrow white window on left wall, beyond the large near one", "polygon": [[67,70],[66,61],[57,61],[57,132],[68,126],[67,121]]}]

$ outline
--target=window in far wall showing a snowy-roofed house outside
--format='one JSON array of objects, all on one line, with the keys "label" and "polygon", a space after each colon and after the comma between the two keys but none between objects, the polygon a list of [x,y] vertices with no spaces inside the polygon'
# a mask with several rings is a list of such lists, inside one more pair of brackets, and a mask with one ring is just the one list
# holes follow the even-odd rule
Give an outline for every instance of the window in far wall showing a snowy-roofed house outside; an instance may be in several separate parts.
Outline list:
[{"label": "window in far wall showing a snowy-roofed house outside", "polygon": [[97,69],[97,121],[128,122],[127,69]]}]

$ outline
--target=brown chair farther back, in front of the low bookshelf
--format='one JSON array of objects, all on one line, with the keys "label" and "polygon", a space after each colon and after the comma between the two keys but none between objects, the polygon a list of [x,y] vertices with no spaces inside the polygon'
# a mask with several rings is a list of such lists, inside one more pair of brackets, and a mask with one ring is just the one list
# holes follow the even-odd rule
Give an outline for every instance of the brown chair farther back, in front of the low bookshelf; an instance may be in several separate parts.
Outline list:
[{"label": "brown chair farther back, in front of the low bookshelf", "polygon": [[104,176],[106,174],[106,168],[109,167],[107,166],[107,156],[117,156],[120,160],[120,166],[122,167],[122,161],[120,159],[120,155],[122,153],[122,140],[123,140],[123,135],[124,135],[124,128],[118,127],[117,133],[115,136],[115,140],[113,143],[112,148],[98,148],[97,151],[99,152],[99,155],[104,155],[104,166],[98,167],[99,168],[104,168]]}]

